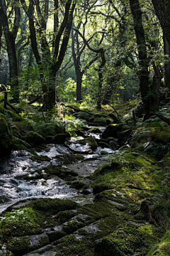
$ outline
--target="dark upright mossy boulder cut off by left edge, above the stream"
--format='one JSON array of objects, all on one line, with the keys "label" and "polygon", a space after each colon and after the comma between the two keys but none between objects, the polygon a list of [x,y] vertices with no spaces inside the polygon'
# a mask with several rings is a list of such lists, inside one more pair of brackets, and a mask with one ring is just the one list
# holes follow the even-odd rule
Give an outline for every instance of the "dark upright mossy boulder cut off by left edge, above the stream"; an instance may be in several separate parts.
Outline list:
[{"label": "dark upright mossy boulder cut off by left edge, above the stream", "polygon": [[0,157],[6,156],[13,147],[11,129],[4,114],[0,114]]}]

